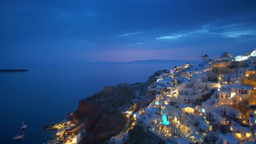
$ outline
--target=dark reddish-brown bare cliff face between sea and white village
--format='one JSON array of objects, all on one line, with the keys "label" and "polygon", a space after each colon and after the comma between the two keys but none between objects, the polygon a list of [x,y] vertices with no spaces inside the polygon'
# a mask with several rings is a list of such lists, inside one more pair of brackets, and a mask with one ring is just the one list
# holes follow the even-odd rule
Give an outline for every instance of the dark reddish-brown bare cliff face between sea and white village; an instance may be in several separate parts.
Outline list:
[{"label": "dark reddish-brown bare cliff face between sea and white village", "polygon": [[147,83],[136,83],[135,85],[119,84],[117,86],[105,86],[103,91],[80,100],[78,110],[72,115],[73,122],[85,118],[86,136],[82,144],[100,144],[118,134],[125,127],[128,119],[121,111],[138,111],[146,102],[132,100],[136,98],[135,92],[140,90],[146,95],[149,83],[156,81],[155,76],[150,76]]}]

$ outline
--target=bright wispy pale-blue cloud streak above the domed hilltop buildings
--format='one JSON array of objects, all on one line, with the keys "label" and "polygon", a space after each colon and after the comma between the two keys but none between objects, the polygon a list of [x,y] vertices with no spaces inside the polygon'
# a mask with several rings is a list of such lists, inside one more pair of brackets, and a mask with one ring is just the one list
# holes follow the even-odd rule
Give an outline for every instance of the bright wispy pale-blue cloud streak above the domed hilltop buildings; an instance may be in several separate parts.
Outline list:
[{"label": "bright wispy pale-blue cloud streak above the domed hilltop buildings", "polygon": [[161,36],[157,40],[181,39],[185,37],[197,37],[205,35],[218,35],[226,38],[241,38],[243,36],[256,36],[256,26],[248,26],[243,23],[216,26],[214,23],[201,26],[199,29],[186,30],[173,35]]}]

